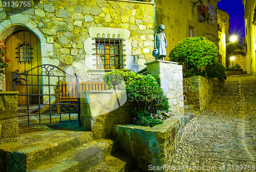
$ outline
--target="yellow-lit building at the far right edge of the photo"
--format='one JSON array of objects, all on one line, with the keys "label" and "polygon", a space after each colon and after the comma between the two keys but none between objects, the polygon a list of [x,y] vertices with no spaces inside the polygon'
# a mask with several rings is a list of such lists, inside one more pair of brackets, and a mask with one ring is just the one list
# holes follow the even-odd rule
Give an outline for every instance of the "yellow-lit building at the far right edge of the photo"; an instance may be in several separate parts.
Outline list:
[{"label": "yellow-lit building at the far right edge of the photo", "polygon": [[245,7],[245,41],[247,51],[247,73],[256,76],[256,2],[253,0],[243,0]]}]

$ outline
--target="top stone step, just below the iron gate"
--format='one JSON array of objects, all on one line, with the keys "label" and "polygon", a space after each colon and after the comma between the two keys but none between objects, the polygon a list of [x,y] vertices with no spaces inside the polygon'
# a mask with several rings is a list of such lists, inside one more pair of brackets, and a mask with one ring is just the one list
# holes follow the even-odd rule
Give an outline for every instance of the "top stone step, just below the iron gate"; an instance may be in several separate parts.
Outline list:
[{"label": "top stone step, just below the iron gate", "polygon": [[27,171],[92,139],[92,132],[87,131],[51,131],[21,135],[17,142],[0,145],[0,163],[4,162],[2,164],[6,171]]}]

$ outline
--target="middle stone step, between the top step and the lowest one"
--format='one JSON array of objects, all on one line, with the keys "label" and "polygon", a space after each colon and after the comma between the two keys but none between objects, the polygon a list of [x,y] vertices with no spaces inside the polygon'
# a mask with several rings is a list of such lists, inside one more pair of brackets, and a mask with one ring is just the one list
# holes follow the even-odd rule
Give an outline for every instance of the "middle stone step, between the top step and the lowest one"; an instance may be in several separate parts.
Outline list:
[{"label": "middle stone step, between the top step and the lowest one", "polygon": [[87,171],[90,166],[111,154],[113,141],[110,139],[93,140],[72,148],[42,164],[29,169],[29,172]]}]

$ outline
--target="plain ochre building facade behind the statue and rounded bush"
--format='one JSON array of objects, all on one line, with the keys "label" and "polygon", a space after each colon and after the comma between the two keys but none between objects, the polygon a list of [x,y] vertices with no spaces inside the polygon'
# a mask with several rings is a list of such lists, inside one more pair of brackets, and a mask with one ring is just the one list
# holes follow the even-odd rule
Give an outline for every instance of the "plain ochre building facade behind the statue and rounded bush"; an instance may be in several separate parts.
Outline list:
[{"label": "plain ochre building facade behind the statue and rounded bush", "polygon": [[[208,5],[214,7],[214,16],[212,19],[198,11],[200,7],[199,1],[169,1],[154,0],[154,30],[160,24],[165,26],[165,35],[167,39],[167,56],[172,48],[182,39],[194,36],[205,36],[210,41],[219,46],[218,38],[218,20],[217,20],[217,2],[219,0],[203,0],[202,3],[206,7]],[[196,3],[198,2],[198,3]],[[194,4],[196,3],[196,4]],[[201,19],[199,19],[201,18]],[[168,60],[168,58],[166,58]]]}]

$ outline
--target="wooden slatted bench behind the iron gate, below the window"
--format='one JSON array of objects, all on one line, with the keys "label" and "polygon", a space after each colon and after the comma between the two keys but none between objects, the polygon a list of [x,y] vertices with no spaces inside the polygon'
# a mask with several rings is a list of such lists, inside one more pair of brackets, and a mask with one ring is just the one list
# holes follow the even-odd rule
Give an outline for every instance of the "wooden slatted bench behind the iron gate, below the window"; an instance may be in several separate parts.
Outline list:
[{"label": "wooden slatted bench behind the iron gate, below the window", "polygon": [[[60,113],[61,102],[77,101],[76,82],[59,81],[59,89],[56,90],[57,113]],[[104,82],[79,82],[79,91],[104,91],[108,85]]]}]

